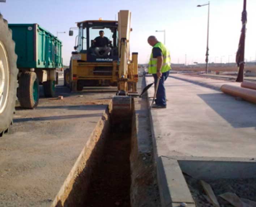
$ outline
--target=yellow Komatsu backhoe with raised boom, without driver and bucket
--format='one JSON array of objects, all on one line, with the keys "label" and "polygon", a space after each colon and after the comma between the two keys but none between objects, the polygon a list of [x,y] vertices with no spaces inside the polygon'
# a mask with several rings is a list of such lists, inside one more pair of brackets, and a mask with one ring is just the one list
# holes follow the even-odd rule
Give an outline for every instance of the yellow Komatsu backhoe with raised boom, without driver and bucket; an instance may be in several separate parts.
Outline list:
[{"label": "yellow Komatsu backhoe with raised boom, without driver and bucket", "polygon": [[[117,85],[117,95],[137,93],[137,53],[129,53],[131,12],[121,10],[118,21],[88,20],[77,23],[78,35],[65,81],[72,91],[84,86]],[[104,32],[109,42],[99,48],[95,38]],[[73,35],[73,30],[69,31]],[[107,51],[107,52],[106,52]]]}]

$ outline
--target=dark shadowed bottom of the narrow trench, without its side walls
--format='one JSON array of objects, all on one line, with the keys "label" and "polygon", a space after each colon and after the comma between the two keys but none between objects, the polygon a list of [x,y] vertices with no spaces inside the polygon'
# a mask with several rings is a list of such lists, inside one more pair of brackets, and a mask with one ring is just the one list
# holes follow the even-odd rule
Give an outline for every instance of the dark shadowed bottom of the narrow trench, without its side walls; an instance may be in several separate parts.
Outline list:
[{"label": "dark shadowed bottom of the narrow trench, without its side walls", "polygon": [[84,206],[131,206],[131,122],[129,120],[122,126],[112,123],[101,159],[96,161],[88,191],[84,195]]}]

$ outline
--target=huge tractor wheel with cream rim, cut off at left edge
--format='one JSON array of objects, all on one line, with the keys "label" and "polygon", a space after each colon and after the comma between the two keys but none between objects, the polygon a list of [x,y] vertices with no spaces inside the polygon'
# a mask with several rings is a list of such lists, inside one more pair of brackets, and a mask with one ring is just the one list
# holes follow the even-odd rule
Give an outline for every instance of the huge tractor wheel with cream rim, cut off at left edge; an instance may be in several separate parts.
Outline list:
[{"label": "huge tractor wheel with cream rim, cut off at left edge", "polygon": [[17,55],[12,31],[0,14],[0,136],[8,132],[17,99]]}]

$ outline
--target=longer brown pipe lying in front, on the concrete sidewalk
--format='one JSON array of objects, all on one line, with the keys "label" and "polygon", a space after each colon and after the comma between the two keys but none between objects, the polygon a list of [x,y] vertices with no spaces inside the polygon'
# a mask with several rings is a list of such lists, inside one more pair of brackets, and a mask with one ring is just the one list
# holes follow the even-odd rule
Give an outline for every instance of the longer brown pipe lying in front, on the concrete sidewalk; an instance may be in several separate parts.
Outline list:
[{"label": "longer brown pipe lying in front, on the concrete sidewalk", "polygon": [[224,84],[221,86],[221,91],[225,94],[243,98],[248,102],[256,103],[256,90]]}]

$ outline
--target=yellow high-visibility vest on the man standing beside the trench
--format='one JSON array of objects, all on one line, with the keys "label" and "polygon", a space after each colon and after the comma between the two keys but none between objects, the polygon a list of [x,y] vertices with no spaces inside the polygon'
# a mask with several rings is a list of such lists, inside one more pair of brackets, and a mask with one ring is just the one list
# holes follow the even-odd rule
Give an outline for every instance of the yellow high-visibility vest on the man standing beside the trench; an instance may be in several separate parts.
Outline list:
[{"label": "yellow high-visibility vest on the man standing beside the trench", "polygon": [[[153,46],[153,48],[160,48],[163,54],[163,66],[161,69],[161,72],[164,73],[168,70],[171,69],[171,57],[168,49],[165,47],[162,42],[157,42]],[[152,49],[153,50],[153,49]],[[149,73],[157,73],[157,58],[153,58],[153,52],[150,55],[150,60],[149,60],[149,67],[148,67]]]}]

